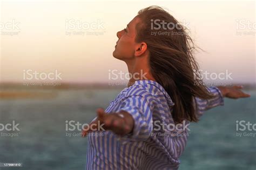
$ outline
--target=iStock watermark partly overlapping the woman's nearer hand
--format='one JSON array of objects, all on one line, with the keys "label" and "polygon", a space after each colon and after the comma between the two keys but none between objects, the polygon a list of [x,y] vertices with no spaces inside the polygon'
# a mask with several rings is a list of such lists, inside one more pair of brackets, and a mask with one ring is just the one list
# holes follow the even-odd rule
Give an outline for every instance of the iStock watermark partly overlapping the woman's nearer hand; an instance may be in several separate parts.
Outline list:
[{"label": "iStock watermark partly overlapping the woman's nearer hand", "polygon": [[89,135],[98,135],[103,136],[104,133],[100,131],[105,131],[103,128],[104,124],[100,124],[98,121],[97,124],[82,124],[79,121],[75,120],[66,120],[65,121],[65,131],[66,131],[66,137],[82,137],[82,130],[87,131],[97,131],[98,133],[89,133]]}]

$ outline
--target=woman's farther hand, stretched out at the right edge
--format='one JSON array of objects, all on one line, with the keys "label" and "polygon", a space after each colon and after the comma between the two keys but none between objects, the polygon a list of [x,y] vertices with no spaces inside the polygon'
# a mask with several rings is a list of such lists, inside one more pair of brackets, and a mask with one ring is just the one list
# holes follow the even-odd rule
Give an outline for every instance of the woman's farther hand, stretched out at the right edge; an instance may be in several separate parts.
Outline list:
[{"label": "woman's farther hand, stretched out at the right edge", "polygon": [[242,86],[232,86],[232,87],[224,87],[218,86],[218,89],[221,91],[223,97],[238,99],[250,97],[250,94],[244,93],[241,91]]}]

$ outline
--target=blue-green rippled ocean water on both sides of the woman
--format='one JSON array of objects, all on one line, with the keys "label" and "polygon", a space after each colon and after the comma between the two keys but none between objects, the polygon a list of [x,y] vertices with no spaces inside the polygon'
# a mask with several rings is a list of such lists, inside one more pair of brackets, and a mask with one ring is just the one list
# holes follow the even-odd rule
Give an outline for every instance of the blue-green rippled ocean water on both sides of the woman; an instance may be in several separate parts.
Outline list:
[{"label": "blue-green rippled ocean water on both sides of the woman", "polygon": [[[43,90],[56,93],[49,99],[0,99],[0,123],[15,120],[17,137],[0,135],[0,162],[21,162],[22,167],[0,169],[84,169],[87,139],[79,131],[66,131],[66,121],[90,123],[96,108],[106,108],[119,90]],[[205,112],[191,123],[185,152],[185,169],[256,169],[256,136],[237,137],[236,121],[255,124],[256,91],[251,98],[225,99],[225,105]],[[69,126],[70,127],[70,126]],[[72,133],[71,137],[67,136]]]}]

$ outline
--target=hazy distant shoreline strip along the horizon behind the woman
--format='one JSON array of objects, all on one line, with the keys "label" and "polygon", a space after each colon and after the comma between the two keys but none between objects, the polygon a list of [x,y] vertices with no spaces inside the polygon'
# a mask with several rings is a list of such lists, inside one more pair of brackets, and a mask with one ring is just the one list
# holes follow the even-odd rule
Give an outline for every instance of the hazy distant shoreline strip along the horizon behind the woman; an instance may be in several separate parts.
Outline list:
[{"label": "hazy distant shoreline strip along the horizon behind the woman", "polygon": [[[127,83],[0,83],[0,99],[52,99],[58,91],[69,90],[119,90]],[[256,90],[255,84],[242,83],[205,83],[206,86],[243,85],[244,90]]]}]

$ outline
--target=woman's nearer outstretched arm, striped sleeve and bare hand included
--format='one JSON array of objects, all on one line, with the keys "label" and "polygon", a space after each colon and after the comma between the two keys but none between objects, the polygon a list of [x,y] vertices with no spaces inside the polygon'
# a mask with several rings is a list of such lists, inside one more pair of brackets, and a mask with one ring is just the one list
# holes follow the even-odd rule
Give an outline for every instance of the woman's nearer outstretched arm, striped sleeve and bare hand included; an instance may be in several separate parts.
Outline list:
[{"label": "woman's nearer outstretched arm, striped sleeve and bare hand included", "polygon": [[[117,134],[123,144],[147,140],[151,135],[152,110],[156,105],[154,98],[150,94],[133,95],[123,98],[120,103],[116,113],[105,113],[103,109],[98,109],[98,117],[91,124],[103,125],[104,130]],[[83,137],[90,131],[83,131]]]}]

